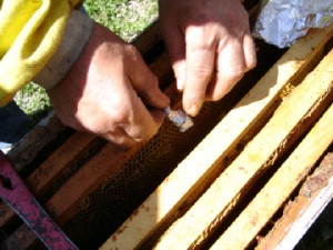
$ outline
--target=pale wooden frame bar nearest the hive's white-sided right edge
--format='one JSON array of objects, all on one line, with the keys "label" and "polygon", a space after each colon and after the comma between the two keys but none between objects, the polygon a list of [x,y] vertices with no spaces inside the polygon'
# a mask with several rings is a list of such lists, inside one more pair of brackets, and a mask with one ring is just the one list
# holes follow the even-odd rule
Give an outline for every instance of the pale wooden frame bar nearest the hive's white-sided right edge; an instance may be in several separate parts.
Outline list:
[{"label": "pale wooden frame bar nearest the hive's white-sided right edge", "polygon": [[[260,230],[271,220],[332,143],[332,124],[333,104],[251,203],[212,246],[212,250],[245,249],[255,239]],[[294,244],[295,242],[293,242]],[[291,244],[289,244],[289,249],[291,249]]]}]

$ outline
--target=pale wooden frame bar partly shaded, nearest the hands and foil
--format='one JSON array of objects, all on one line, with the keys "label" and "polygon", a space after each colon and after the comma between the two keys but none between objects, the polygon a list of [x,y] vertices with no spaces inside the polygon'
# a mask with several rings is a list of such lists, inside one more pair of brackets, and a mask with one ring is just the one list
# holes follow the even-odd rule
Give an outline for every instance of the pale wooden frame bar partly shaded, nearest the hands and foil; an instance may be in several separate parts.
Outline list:
[{"label": "pale wooden frame bar partly shaded, nearest the hands and foil", "polygon": [[[219,167],[229,151],[246,134],[251,124],[280,98],[283,88],[293,82],[321,53],[332,33],[333,26],[312,31],[299,40],[101,249],[135,249],[162,227],[171,214],[176,213],[191,191],[202,184],[201,181]],[[183,230],[182,226],[179,228]],[[178,239],[171,239],[170,242],[178,242]],[[175,248],[179,249],[178,246]]]}]

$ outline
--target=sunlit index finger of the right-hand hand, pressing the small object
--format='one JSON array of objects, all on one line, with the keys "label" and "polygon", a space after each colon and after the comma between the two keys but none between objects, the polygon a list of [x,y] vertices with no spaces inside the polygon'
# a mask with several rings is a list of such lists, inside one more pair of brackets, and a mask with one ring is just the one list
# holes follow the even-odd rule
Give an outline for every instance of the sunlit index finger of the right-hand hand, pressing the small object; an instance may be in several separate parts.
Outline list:
[{"label": "sunlit index finger of the right-hand hand, pressing the small object", "polygon": [[216,41],[209,39],[203,28],[186,30],[186,77],[183,108],[190,116],[196,116],[204,99],[208,83],[214,70]]}]

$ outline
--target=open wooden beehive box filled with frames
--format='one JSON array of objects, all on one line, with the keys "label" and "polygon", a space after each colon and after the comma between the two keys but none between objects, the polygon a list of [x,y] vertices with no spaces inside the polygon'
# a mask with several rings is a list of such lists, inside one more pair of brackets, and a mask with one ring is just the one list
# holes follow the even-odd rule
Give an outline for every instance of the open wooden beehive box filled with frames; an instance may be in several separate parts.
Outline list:
[{"label": "open wooden beehive box filled with frames", "polygon": [[[333,196],[332,33],[259,42],[258,67],[184,133],[165,121],[124,151],[51,113],[8,156],[80,249],[292,249]],[[134,44],[180,108],[159,23]],[[43,249],[0,214],[3,249]]]}]

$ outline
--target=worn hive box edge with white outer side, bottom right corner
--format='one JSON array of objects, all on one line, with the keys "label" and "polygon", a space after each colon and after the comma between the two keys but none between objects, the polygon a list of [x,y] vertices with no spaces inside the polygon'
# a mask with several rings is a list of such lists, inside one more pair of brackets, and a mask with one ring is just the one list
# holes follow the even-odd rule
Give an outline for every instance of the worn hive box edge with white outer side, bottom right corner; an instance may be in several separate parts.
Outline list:
[{"label": "worn hive box edge with white outer side, bottom right corner", "polygon": [[284,250],[295,246],[333,198],[332,170],[333,152],[330,152],[306,179],[299,196],[285,207],[274,228],[259,241],[256,250]]}]

